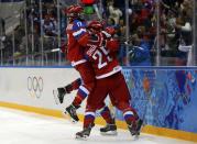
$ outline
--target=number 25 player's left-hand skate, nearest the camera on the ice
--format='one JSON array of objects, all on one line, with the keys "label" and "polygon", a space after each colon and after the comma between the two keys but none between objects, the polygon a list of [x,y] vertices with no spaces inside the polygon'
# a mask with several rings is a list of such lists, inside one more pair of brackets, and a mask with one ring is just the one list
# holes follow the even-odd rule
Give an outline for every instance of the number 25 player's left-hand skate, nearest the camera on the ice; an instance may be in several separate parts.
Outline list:
[{"label": "number 25 player's left-hand skate, nearest the camera on the ice", "polygon": [[89,137],[89,134],[94,126],[95,126],[95,124],[90,124],[88,128],[85,128],[83,131],[76,133],[76,139],[87,140],[87,137]]}]

